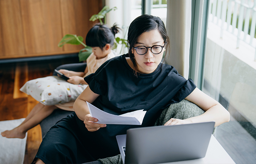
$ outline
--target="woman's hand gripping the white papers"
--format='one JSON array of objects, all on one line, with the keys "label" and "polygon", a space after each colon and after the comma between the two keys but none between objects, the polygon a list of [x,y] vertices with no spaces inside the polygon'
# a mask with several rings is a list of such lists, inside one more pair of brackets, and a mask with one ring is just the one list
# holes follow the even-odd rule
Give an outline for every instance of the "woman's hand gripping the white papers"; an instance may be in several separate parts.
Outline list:
[{"label": "woman's hand gripping the white papers", "polygon": [[98,121],[98,119],[96,119],[94,117],[91,117],[90,114],[87,114],[87,115],[84,116],[85,127],[90,132],[94,132],[94,131],[99,130],[100,128],[106,127],[106,124],[95,123],[97,121]]}]

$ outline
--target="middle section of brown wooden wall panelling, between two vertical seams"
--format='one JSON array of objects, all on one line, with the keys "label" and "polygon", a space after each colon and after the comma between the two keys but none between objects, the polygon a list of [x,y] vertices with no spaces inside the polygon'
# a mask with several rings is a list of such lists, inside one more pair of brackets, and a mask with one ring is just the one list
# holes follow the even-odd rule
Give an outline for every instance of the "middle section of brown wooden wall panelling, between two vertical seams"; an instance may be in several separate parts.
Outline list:
[{"label": "middle section of brown wooden wall panelling, between two vertical seams", "polygon": [[25,54],[62,52],[59,0],[20,0],[20,5]]}]

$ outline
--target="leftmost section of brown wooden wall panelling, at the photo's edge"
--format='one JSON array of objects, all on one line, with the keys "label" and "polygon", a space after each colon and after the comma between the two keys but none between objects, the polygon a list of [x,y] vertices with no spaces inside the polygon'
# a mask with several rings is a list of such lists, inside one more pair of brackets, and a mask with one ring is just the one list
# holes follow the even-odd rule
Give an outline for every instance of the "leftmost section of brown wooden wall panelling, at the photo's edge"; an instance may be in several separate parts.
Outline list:
[{"label": "leftmost section of brown wooden wall panelling, at the photo's edge", "polygon": [[0,0],[0,57],[24,55],[19,0]]}]

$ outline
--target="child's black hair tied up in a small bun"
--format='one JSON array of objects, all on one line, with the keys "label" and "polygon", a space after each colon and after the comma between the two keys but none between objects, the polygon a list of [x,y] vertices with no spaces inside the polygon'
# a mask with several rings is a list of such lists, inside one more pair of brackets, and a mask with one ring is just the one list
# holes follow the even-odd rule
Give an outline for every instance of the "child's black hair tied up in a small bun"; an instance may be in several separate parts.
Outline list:
[{"label": "child's black hair tied up in a small bun", "polygon": [[119,32],[116,24],[109,28],[107,25],[97,24],[89,30],[86,35],[86,45],[90,47],[100,47],[101,49],[106,45],[110,44],[111,47],[114,45],[115,34]]}]

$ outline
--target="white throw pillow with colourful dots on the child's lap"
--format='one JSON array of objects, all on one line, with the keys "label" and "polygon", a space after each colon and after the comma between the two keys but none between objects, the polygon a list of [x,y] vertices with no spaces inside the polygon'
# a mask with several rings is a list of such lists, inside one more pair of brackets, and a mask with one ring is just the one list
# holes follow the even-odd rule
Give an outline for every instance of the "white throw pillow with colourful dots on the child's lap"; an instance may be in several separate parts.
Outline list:
[{"label": "white throw pillow with colourful dots on the child's lap", "polygon": [[27,81],[20,91],[44,105],[55,105],[75,100],[87,86],[68,83],[58,76],[47,76]]}]

